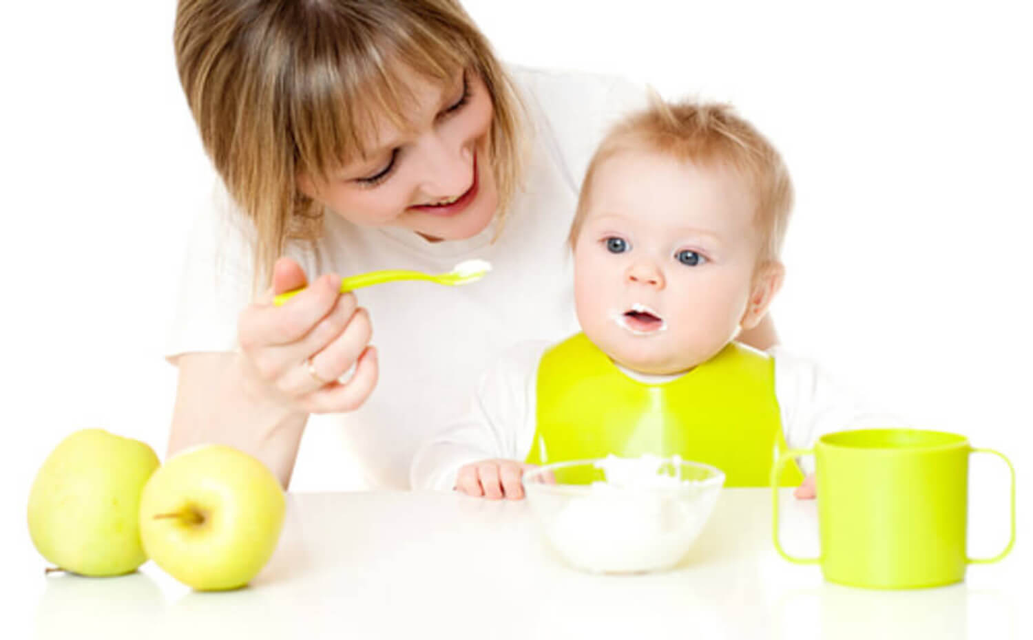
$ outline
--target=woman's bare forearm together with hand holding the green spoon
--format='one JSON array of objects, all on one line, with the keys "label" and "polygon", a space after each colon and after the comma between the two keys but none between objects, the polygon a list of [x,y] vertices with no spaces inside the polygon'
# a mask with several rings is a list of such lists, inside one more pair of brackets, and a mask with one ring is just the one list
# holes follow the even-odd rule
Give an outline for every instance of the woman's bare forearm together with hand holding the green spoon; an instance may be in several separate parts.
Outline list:
[{"label": "woman's bare forearm together with hand holding the green spoon", "polygon": [[[341,294],[340,277],[327,274],[309,285],[296,262],[281,258],[273,281],[240,315],[240,351],[178,356],[168,453],[228,445],[261,460],[286,488],[309,414],[357,409],[378,367],[369,315],[353,294]],[[272,303],[274,294],[306,285],[283,307]]]}]

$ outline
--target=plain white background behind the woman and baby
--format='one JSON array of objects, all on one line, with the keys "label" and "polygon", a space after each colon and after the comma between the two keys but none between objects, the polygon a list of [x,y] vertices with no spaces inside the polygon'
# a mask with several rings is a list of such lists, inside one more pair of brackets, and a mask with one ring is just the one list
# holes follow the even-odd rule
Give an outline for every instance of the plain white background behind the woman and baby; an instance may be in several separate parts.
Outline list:
[{"label": "plain white background behind the woman and baby", "polygon": [[[1024,4],[466,2],[507,61],[735,103],[799,194],[774,308],[784,342],[1028,477]],[[211,174],[175,73],[173,5],[18,2],[0,21],[2,531],[22,553],[29,485],[64,436],[100,426],[164,455],[164,332]],[[294,488],[353,486],[312,440]]]}]

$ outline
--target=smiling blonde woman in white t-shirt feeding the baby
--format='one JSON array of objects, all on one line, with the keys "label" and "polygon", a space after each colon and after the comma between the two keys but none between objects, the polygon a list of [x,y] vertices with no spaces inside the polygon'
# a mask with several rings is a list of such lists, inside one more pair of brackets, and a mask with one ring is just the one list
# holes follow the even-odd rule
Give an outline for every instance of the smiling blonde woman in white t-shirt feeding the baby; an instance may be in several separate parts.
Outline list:
[{"label": "smiling blonde woman in white t-shirt feeding the baby", "polygon": [[[224,190],[190,241],[169,453],[222,442],[286,486],[309,415],[334,414],[369,484],[406,487],[493,356],[575,330],[564,239],[581,177],[644,92],[510,73],[452,0],[181,0],[175,40]],[[493,271],[338,294],[340,275],[468,258]]]}]

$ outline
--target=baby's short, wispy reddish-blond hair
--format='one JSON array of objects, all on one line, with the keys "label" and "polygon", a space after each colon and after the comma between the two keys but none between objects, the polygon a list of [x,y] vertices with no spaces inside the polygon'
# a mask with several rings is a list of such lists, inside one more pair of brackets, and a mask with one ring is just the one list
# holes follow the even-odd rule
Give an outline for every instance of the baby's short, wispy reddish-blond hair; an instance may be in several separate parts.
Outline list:
[{"label": "baby's short, wispy reddish-blond hair", "polygon": [[750,123],[721,103],[668,103],[655,93],[652,104],[615,125],[589,163],[570,246],[581,233],[599,166],[625,151],[646,151],[698,166],[731,168],[750,189],[754,222],[762,235],[759,264],[778,259],[792,210],[792,183],[778,151]]}]

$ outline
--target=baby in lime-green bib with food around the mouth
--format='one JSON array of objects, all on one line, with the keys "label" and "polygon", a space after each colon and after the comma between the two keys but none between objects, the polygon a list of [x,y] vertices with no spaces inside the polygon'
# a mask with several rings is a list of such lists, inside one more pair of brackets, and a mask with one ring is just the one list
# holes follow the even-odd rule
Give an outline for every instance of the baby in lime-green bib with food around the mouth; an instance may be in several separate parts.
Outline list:
[{"label": "baby in lime-green bib with food around the mouth", "polygon": [[[583,332],[488,371],[466,415],[417,452],[413,486],[520,499],[529,466],[647,453],[766,486],[787,446],[866,421],[814,364],[735,342],[782,285],[791,207],[778,152],[727,105],[655,99],[619,123],[570,229]],[[780,483],[804,479],[787,466]]]}]

